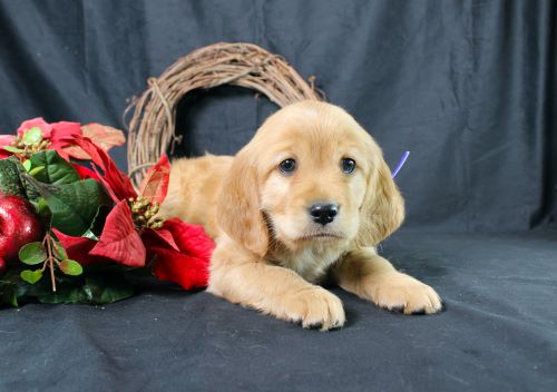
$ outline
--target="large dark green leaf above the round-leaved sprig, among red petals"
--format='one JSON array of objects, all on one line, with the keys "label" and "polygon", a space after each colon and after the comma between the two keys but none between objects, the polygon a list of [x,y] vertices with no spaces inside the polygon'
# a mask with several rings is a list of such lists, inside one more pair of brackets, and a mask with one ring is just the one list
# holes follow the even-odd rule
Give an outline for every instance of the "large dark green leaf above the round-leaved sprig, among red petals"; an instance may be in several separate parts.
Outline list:
[{"label": "large dark green leaf above the round-leaved sprig, among red petals", "polygon": [[71,236],[81,236],[92,225],[101,205],[110,205],[102,186],[89,178],[72,184],[50,186],[33,177],[26,178],[35,185],[52,213],[51,225]]}]

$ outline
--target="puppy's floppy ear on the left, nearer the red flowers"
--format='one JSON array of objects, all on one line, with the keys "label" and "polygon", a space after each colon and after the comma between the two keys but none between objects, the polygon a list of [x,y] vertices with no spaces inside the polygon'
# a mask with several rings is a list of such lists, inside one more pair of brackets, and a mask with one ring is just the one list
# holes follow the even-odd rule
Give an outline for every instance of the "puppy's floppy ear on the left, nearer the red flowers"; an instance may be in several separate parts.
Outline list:
[{"label": "puppy's floppy ear on the left, nearer the red flowers", "polygon": [[268,246],[268,229],[260,209],[255,163],[247,150],[240,151],[224,179],[216,206],[221,228],[247,249],[263,257]]}]

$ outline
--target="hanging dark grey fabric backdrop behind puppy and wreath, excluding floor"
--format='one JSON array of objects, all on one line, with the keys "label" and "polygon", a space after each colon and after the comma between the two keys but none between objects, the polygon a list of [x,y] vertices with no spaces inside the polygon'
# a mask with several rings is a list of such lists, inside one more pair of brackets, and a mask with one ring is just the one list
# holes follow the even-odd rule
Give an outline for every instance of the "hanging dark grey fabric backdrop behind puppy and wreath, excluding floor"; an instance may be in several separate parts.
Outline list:
[{"label": "hanging dark grey fabric backdrop behind puppy and wreath, excluding floor", "polygon": [[[403,229],[555,224],[554,2],[0,1],[0,129],[120,121],[148,77],[218,41],[254,42],[316,76],[378,140],[405,196]],[[276,107],[196,91],[177,155],[235,154]],[[125,148],[115,149],[126,166]],[[553,226],[551,226],[553,225]]]}]

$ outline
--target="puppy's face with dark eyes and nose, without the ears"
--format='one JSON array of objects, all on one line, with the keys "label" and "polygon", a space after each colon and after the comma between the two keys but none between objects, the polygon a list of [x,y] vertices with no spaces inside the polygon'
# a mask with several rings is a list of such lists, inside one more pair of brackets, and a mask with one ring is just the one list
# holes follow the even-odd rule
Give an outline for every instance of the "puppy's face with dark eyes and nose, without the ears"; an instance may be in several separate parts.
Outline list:
[{"label": "puppy's face with dark eyes and nose, without the ears", "polygon": [[358,234],[373,153],[350,119],[302,107],[272,118],[254,140],[261,209],[290,248]]}]

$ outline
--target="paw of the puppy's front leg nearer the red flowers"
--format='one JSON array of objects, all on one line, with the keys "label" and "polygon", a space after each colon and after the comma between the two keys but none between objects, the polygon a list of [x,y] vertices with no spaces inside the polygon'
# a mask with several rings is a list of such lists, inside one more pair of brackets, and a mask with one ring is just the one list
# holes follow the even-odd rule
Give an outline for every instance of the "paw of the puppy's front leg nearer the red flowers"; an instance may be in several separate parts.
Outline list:
[{"label": "paw of the puppy's front leg nearer the red flowers", "polygon": [[321,331],[344,325],[341,300],[322,287],[311,287],[285,297],[286,318],[301,322],[304,329],[321,326]]}]

